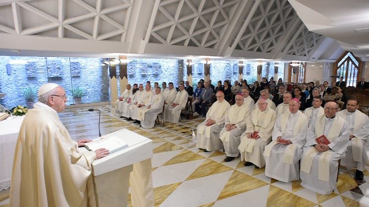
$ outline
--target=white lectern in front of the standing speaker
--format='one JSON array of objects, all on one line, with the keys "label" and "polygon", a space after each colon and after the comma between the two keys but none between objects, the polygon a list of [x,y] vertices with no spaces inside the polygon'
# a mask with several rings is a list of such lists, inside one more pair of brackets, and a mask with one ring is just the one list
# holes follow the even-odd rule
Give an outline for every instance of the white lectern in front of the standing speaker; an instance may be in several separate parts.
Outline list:
[{"label": "white lectern in front of the standing speaker", "polygon": [[[152,140],[128,129],[107,135],[122,138],[127,148],[92,162],[92,180],[97,207],[126,207],[133,164],[153,156]],[[151,175],[151,166],[150,175]],[[150,179],[152,182],[152,180]],[[149,185],[152,183],[149,183]]]}]

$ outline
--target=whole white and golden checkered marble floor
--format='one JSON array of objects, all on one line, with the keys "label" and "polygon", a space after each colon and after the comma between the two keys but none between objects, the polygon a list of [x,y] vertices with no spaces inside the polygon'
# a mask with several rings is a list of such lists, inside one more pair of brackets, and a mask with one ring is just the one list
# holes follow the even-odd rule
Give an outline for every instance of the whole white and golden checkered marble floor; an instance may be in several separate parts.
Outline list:
[{"label": "whole white and golden checkered marble floor", "polygon": [[[342,167],[336,189],[332,195],[324,196],[302,187],[301,181],[285,183],[270,179],[264,168],[245,167],[240,158],[225,163],[223,152],[205,153],[197,149],[191,135],[192,131],[196,133],[201,118],[143,129],[115,115],[112,106],[97,108],[101,110],[101,134],[126,128],[153,140],[155,206],[356,207],[366,199],[369,166],[361,182],[353,179],[354,172]],[[60,114],[73,139],[98,137],[98,112],[87,109],[69,109]]]}]

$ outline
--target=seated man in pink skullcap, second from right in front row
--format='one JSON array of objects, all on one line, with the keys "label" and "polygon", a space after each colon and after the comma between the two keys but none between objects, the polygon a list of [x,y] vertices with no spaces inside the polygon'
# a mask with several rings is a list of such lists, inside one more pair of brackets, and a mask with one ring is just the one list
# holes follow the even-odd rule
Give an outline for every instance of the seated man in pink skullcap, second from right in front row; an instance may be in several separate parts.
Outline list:
[{"label": "seated man in pink skullcap, second from right in front row", "polygon": [[283,182],[300,179],[299,160],[304,152],[307,132],[307,117],[299,110],[299,100],[292,99],[288,105],[288,112],[277,117],[273,141],[264,151],[265,175]]}]

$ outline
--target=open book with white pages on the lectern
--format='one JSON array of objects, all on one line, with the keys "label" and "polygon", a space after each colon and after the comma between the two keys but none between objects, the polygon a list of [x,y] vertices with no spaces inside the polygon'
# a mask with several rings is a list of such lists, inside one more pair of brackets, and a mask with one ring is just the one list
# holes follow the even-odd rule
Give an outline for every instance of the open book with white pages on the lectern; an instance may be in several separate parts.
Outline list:
[{"label": "open book with white pages on the lectern", "polygon": [[95,151],[100,148],[105,148],[109,150],[109,154],[122,150],[128,147],[128,144],[123,141],[122,138],[115,135],[105,135],[97,139],[92,140],[92,142],[85,143],[85,147],[90,151]]}]

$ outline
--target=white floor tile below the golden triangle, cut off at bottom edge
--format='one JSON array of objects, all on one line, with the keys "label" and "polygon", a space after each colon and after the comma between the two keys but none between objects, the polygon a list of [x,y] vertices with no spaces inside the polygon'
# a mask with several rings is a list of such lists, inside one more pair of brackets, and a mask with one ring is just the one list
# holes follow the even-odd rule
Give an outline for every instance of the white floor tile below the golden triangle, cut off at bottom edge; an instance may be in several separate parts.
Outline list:
[{"label": "white floor tile below the golden triangle, cut off at bottom edge", "polygon": [[215,202],[214,207],[265,207],[267,206],[269,185]]}]

